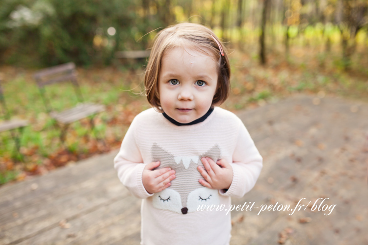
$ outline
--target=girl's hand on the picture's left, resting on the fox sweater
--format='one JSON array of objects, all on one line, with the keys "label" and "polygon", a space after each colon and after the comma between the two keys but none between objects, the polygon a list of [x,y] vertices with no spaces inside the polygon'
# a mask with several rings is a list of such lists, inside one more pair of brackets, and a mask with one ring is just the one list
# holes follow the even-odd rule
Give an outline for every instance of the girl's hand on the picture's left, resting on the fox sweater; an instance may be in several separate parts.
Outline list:
[{"label": "girl's hand on the picture's left, resting on the fox sweater", "polygon": [[158,193],[171,185],[170,181],[175,179],[175,170],[170,168],[157,169],[160,162],[147,164],[142,173],[143,186],[149,194]]}]

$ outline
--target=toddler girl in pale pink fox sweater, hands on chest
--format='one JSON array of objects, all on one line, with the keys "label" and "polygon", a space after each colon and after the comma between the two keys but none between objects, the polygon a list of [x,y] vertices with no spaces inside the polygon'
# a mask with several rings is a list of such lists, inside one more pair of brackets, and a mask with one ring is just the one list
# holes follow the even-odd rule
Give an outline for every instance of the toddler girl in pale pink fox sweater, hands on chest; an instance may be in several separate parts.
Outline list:
[{"label": "toddler girl in pale pink fox sweater, hands on chest", "polygon": [[141,244],[228,245],[231,196],[253,188],[262,157],[240,119],[217,107],[230,92],[226,49],[203,25],[170,26],[155,39],[144,82],[153,108],[134,118],[114,159],[143,199]]}]

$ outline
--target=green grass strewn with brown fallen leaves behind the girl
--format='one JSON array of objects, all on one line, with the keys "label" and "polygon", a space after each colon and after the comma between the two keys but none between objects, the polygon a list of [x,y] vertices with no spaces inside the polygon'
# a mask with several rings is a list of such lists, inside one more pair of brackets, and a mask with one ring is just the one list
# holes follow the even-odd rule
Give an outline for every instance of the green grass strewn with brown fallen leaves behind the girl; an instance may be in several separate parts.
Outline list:
[{"label": "green grass strewn with brown fallen leaves behind the girl", "polygon": [[[247,46],[244,52],[237,51],[236,47],[230,48],[235,50],[230,55],[232,91],[222,105],[228,110],[236,112],[262,106],[295,93],[368,100],[366,47],[360,47],[360,52],[352,57],[351,70],[347,72],[339,63],[341,51],[338,45],[332,45],[330,52],[321,52],[321,45],[302,47],[294,44],[290,46],[288,58],[285,58],[283,47],[275,46],[268,51],[266,66],[259,65],[254,46]],[[12,158],[14,141],[9,132],[0,134],[0,185],[118,148],[134,116],[150,107],[140,94],[144,75],[141,65],[134,65],[134,68],[121,65],[104,69],[79,68],[79,85],[84,99],[105,104],[107,108],[95,118],[96,132],[103,136],[105,146],[90,135],[88,120],[81,120],[68,130],[66,144],[69,151],[65,151],[58,139],[59,130],[46,113],[32,78],[34,72],[0,67],[4,77],[2,88],[11,115],[30,122],[21,139],[24,162]],[[78,102],[68,83],[48,87],[47,94],[53,98],[56,110]]]}]

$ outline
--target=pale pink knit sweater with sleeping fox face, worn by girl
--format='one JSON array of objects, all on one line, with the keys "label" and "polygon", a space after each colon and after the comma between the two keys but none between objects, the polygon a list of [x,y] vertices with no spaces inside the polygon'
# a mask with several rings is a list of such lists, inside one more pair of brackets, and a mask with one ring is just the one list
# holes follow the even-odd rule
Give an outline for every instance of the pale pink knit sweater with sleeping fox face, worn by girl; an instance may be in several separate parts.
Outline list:
[{"label": "pale pink knit sweater with sleeping fox face, worn by girl", "polygon": [[[203,156],[231,163],[233,182],[228,190],[205,188],[198,182],[202,176],[197,166],[203,166]],[[176,178],[169,188],[150,195],[143,186],[142,172],[154,161],[161,162],[159,168],[175,170]],[[227,245],[231,216],[226,214],[231,196],[242,197],[253,188],[262,157],[232,112],[215,107],[202,123],[177,126],[151,108],[134,118],[114,166],[124,186],[143,198],[142,245]],[[224,208],[197,211],[202,204]]]}]

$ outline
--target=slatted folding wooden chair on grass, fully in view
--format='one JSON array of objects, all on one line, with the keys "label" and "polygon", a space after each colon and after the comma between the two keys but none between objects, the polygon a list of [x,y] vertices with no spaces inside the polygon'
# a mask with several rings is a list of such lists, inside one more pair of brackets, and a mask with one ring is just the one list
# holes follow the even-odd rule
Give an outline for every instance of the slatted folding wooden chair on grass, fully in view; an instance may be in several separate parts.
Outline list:
[{"label": "slatted folding wooden chair on grass, fully in view", "polygon": [[[60,141],[64,143],[66,131],[71,123],[83,118],[91,117],[91,131],[94,129],[93,118],[96,114],[105,111],[105,106],[101,104],[85,103],[77,81],[77,71],[74,63],[67,63],[52,68],[40,70],[33,75],[37,82],[41,97],[45,103],[47,112],[58,123],[61,128]],[[46,96],[45,86],[58,82],[70,81],[79,100],[79,104],[74,108],[69,108],[61,112],[56,112],[51,106],[51,100]],[[97,138],[97,137],[96,137]]]}]

